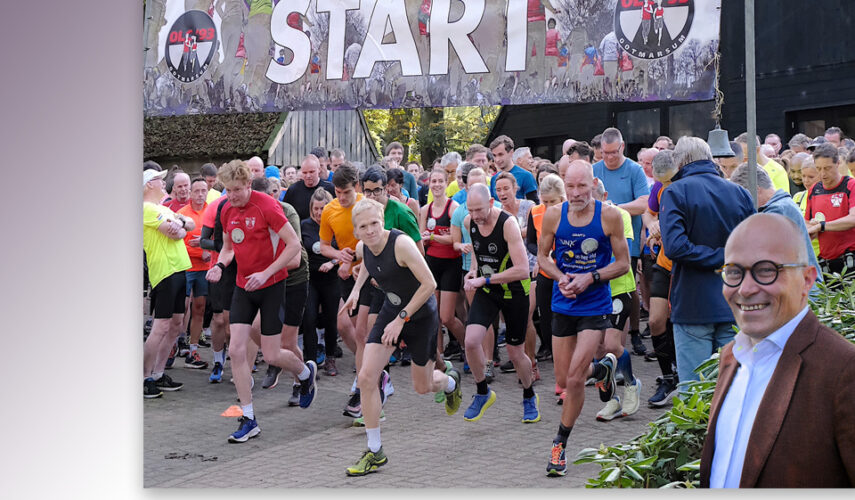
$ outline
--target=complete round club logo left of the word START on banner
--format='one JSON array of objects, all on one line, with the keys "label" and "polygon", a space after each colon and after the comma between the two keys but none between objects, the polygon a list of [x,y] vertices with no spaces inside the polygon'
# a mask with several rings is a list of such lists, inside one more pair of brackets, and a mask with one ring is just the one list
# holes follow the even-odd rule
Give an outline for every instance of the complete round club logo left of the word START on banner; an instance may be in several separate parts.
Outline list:
[{"label": "complete round club logo left of the word START on banner", "polygon": [[207,12],[191,10],[179,17],[166,39],[166,65],[172,76],[189,83],[205,73],[217,52],[217,28]]}]

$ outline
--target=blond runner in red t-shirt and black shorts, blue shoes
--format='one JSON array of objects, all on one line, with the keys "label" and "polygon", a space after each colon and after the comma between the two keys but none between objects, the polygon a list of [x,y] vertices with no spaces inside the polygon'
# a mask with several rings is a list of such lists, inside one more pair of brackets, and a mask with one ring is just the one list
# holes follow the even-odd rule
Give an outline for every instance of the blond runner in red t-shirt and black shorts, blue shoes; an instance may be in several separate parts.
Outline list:
[{"label": "blond runner in red t-shirt and black shorts, blue shoes", "polygon": [[[300,252],[300,240],[282,213],[279,203],[251,188],[252,174],[246,163],[234,160],[217,173],[228,200],[220,212],[223,249],[208,280],[219,281],[223,269],[237,261],[237,279],[229,322],[229,346],[235,388],[243,416],[229,442],[243,443],[261,432],[252,407],[252,373],[247,360],[249,333],[256,314],[261,313],[261,351],[268,364],[288,371],[300,380],[300,407],[308,408],[315,397],[318,367],[305,365],[293,352],[281,348],[285,265]],[[284,245],[283,245],[284,243]]]}]

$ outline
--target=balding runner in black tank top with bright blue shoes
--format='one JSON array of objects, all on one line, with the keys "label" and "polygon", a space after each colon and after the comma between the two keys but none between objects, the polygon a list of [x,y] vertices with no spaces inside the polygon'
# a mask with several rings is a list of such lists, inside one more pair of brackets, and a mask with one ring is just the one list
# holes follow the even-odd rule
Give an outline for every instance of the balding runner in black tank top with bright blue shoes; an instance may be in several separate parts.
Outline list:
[{"label": "balding runner in black tank top with bright blue shoes", "polygon": [[507,325],[508,357],[523,385],[522,421],[537,422],[540,410],[531,385],[532,360],[523,347],[531,278],[522,234],[515,217],[493,207],[487,186],[475,184],[470,187],[466,204],[469,215],[463,220],[463,227],[472,237],[474,259],[464,286],[466,290],[476,289],[466,325],[466,358],[478,391],[464,419],[470,422],[480,419],[496,400],[496,393],[487,385],[481,342],[487,334],[487,327],[501,312]]}]

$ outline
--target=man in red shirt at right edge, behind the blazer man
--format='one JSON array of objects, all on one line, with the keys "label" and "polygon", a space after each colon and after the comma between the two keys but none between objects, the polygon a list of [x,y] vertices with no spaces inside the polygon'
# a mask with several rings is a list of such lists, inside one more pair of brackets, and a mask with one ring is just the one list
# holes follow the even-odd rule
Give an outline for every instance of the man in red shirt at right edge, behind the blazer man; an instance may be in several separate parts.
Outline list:
[{"label": "man in red shirt at right edge, behind the blazer man", "polygon": [[819,264],[827,273],[855,268],[855,179],[841,175],[837,161],[833,144],[813,152],[820,182],[808,191],[805,208],[808,233],[819,238]]}]

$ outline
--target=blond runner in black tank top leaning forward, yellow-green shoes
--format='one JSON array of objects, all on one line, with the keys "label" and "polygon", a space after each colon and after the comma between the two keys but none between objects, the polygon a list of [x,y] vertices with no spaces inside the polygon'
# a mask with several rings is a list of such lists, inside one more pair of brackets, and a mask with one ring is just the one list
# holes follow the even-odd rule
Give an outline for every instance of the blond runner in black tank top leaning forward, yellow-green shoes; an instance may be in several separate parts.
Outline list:
[{"label": "blond runner in black tank top leaning forward, yellow-green shoes", "polygon": [[354,235],[360,239],[356,256],[363,260],[363,268],[340,314],[357,307],[360,291],[369,279],[377,282],[384,299],[368,334],[358,377],[368,450],[347,469],[349,476],[365,475],[388,462],[380,441],[380,410],[385,396],[377,380],[401,340],[413,355],[410,373],[416,392],[443,391],[449,415],[460,407],[460,374],[453,369],[445,374],[429,363],[436,355],[439,323],[433,297],[436,283],[413,240],[401,231],[389,231],[383,226],[384,211],[380,203],[366,199],[354,206]]}]

